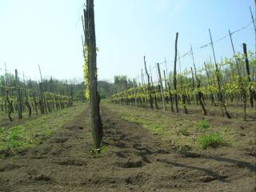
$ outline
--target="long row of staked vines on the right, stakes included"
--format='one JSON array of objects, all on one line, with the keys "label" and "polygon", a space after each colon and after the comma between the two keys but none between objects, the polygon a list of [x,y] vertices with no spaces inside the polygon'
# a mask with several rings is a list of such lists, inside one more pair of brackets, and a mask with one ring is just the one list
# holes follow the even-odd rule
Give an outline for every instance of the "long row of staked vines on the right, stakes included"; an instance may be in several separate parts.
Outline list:
[{"label": "long row of staked vines on the right, stakes included", "polygon": [[[234,52],[233,58],[225,58],[219,63],[214,58],[214,63],[204,62],[202,69],[197,69],[191,47],[188,55],[193,59],[193,67],[177,73],[177,62],[181,69],[181,59],[177,57],[177,42],[178,33],[173,72],[166,75],[166,70],[163,70],[161,73],[157,63],[155,68],[158,69],[158,81],[154,82],[144,57],[145,75],[142,74],[142,81],[134,79],[134,87],[113,94],[111,101],[156,110],[166,110],[166,104],[170,104],[172,112],[178,113],[182,109],[184,114],[189,114],[194,106],[200,106],[204,115],[209,114],[208,108],[217,107],[227,118],[232,118],[229,106],[235,106],[242,109],[246,120],[246,109],[254,108],[256,102],[256,58],[252,52],[247,53],[246,44],[243,44],[242,53]],[[211,45],[214,54],[213,42]]]}]

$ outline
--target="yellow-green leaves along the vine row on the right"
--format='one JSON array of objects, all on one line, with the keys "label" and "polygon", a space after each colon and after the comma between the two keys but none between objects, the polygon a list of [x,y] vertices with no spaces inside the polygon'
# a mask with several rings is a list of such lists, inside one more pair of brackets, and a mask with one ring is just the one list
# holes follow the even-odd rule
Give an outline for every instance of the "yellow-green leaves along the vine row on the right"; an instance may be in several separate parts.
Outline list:
[{"label": "yellow-green leaves along the vine row on the right", "polygon": [[[195,85],[196,83],[193,82],[191,70],[184,70],[177,74],[178,86],[177,90],[174,90],[174,87],[172,86],[173,73],[170,71],[170,74],[167,75],[169,78],[166,79],[170,84],[170,94],[184,95],[192,100],[194,95],[198,93],[202,93],[206,98],[210,98],[213,94],[218,94],[219,91],[221,91],[226,97],[225,104],[228,105],[228,102],[234,102],[234,98],[238,98],[238,95],[241,92],[239,87],[242,87],[242,90],[246,90],[247,93],[249,93],[249,90],[256,91],[255,56],[249,51],[248,57],[250,61],[251,82],[248,81],[248,76],[246,74],[244,56],[244,54],[237,53],[234,54],[232,58],[225,58],[225,60],[217,63],[218,70],[216,70],[216,66],[211,62],[206,62],[202,69],[197,70],[197,78],[200,79],[200,87],[197,87]],[[235,59],[238,61],[238,66]],[[238,68],[242,78],[239,77]],[[161,98],[160,89],[157,85],[151,86],[150,90],[147,89],[146,84],[130,87],[126,85],[127,83],[124,83],[120,86],[119,82],[122,82],[124,79],[126,79],[126,76],[115,76],[115,94],[111,96],[112,102],[133,101],[137,98],[141,98],[142,100],[146,99],[148,102],[149,94],[154,98]],[[222,82],[220,90],[218,88],[218,80]],[[166,97],[169,96],[168,89],[164,91],[164,95]],[[249,97],[249,94],[247,94],[247,97]]]}]

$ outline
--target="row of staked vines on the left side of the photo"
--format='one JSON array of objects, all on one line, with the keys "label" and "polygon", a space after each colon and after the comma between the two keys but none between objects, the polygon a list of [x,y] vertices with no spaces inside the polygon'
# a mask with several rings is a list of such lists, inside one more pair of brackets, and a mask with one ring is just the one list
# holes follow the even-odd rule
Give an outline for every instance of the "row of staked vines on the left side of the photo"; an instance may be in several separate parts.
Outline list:
[{"label": "row of staked vines on the left side of the photo", "polygon": [[32,80],[20,81],[18,71],[15,75],[5,73],[0,75],[0,122],[9,118],[10,122],[14,118],[22,119],[26,114],[50,114],[54,110],[61,110],[73,106],[74,87],[67,82],[42,80],[36,82]]}]

